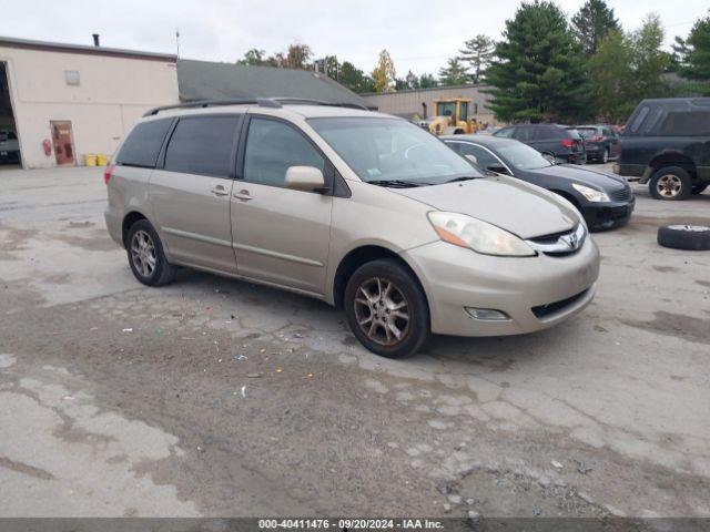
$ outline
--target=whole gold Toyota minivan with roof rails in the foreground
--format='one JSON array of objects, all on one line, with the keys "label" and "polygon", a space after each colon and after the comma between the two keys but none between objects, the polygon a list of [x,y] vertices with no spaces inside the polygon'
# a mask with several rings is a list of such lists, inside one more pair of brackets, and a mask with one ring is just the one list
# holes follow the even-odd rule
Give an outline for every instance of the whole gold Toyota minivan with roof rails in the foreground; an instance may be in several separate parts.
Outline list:
[{"label": "whole gold Toyota minivan with roof rails in the foreground", "polygon": [[109,233],[139,282],[183,266],[316,297],[385,357],[432,332],[544,329],[595,295],[599,252],[570,203],[386,114],[284,99],[159,108],[104,181]]}]

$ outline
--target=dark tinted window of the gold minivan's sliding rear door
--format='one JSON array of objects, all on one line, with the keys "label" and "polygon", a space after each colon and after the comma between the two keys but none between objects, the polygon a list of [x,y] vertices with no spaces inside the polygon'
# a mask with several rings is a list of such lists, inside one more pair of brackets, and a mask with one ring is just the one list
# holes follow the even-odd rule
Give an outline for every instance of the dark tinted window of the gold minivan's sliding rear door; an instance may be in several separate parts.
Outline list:
[{"label": "dark tinted window of the gold minivan's sliding rear door", "polygon": [[181,119],[165,151],[165,170],[230,177],[240,116]]}]

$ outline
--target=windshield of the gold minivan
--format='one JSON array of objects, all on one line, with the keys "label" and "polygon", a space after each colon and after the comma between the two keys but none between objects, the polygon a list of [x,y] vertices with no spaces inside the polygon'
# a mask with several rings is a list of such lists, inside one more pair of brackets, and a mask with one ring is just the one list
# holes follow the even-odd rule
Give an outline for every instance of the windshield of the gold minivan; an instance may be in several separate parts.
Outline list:
[{"label": "windshield of the gold minivan", "polygon": [[323,117],[308,123],[367,183],[420,186],[483,177],[438,139],[403,120]]}]

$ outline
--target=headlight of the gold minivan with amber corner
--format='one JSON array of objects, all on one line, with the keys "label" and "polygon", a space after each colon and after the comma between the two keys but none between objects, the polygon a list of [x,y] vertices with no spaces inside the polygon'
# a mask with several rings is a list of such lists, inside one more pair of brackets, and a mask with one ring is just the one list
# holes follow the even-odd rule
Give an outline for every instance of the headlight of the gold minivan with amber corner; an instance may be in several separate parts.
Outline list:
[{"label": "headlight of the gold minivan with amber corner", "polygon": [[535,252],[513,233],[459,213],[428,213],[429,222],[443,241],[486,255],[531,257]]}]

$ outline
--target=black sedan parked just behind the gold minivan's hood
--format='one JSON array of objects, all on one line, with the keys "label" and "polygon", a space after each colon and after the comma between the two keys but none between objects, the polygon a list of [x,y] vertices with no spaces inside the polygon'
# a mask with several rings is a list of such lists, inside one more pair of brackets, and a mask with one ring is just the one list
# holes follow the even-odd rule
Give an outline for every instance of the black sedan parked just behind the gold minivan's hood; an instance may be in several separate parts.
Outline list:
[{"label": "black sedan parked just behind the gold minivan's hood", "polygon": [[617,175],[551,163],[536,150],[511,139],[455,135],[443,137],[443,141],[484,170],[511,175],[569,200],[590,231],[623,225],[633,212],[633,192]]}]

